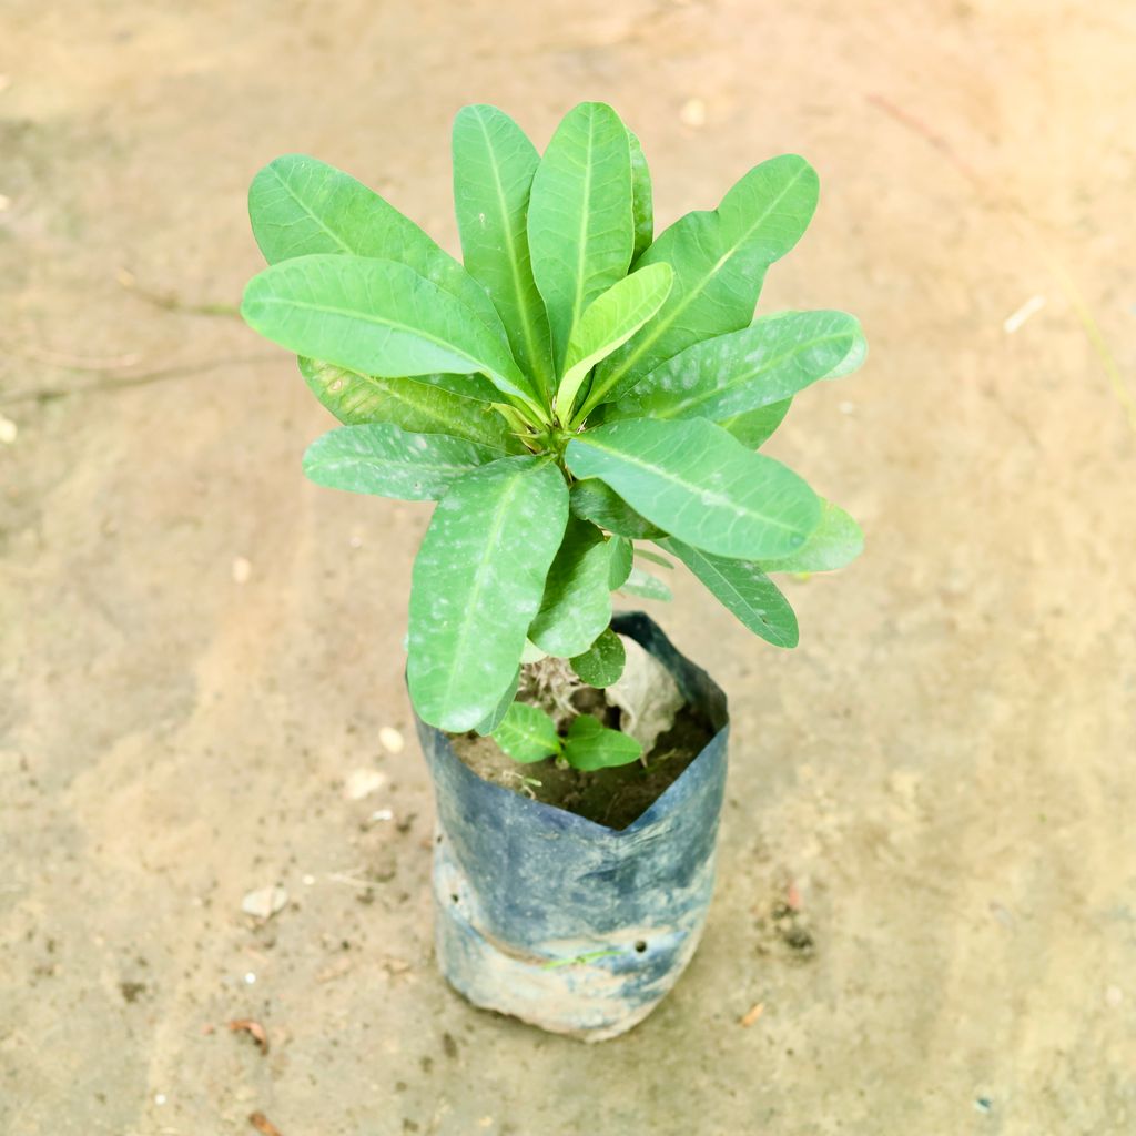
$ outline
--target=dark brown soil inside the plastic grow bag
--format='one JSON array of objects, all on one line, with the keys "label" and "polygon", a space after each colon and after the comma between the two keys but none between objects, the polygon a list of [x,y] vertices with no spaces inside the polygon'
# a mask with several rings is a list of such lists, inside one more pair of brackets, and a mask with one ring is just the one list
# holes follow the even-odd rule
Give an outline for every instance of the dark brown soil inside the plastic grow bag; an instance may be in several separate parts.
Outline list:
[{"label": "dark brown soil inside the plastic grow bag", "polygon": [[[599,713],[598,708],[588,708]],[[619,728],[619,711],[605,708],[604,725]],[[675,725],[660,734],[646,765],[634,761],[615,769],[583,772],[559,768],[552,758],[520,765],[503,753],[492,737],[473,732],[450,738],[458,757],[478,777],[513,793],[543,801],[609,828],[626,828],[641,817],[678,775],[705,749],[713,728],[693,707],[684,705]]]}]

